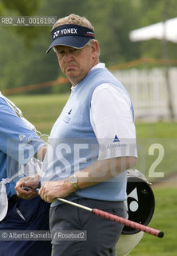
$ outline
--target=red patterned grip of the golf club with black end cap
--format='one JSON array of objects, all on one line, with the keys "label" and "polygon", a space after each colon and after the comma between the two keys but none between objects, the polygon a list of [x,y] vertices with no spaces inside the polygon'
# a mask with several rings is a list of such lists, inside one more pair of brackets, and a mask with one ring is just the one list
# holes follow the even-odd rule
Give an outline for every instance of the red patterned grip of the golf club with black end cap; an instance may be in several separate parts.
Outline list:
[{"label": "red patterned grip of the golf club with black end cap", "polygon": [[155,230],[149,226],[144,226],[140,223],[132,222],[126,218],[122,218],[119,216],[116,216],[114,214],[109,214],[106,211],[98,210],[98,209],[92,209],[92,214],[96,214],[100,217],[107,218],[111,220],[112,222],[119,222],[121,224],[124,224],[125,226],[132,227],[133,229],[143,231],[148,234],[155,235],[158,238],[163,238],[163,231]]}]

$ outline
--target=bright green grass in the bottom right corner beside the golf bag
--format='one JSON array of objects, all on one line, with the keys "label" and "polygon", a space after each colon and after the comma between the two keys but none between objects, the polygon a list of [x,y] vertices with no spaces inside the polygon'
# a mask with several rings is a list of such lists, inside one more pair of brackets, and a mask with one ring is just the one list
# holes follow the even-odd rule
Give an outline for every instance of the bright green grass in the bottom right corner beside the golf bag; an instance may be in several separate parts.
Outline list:
[{"label": "bright green grass in the bottom right corner beside the golf bag", "polygon": [[129,256],[176,256],[177,255],[177,188],[153,189],[155,213],[148,226],[163,230],[164,237],[144,234],[140,243]]}]

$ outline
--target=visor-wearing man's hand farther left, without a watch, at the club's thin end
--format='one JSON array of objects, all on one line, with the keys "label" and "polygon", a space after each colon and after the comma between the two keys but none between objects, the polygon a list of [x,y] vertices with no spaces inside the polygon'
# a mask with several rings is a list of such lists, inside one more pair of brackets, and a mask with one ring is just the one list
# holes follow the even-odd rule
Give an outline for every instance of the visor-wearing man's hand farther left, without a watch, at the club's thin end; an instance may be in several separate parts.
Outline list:
[{"label": "visor-wearing man's hand farther left, without a watch, at the club's thin end", "polygon": [[[28,190],[28,191],[24,190],[23,186],[30,187],[33,190]],[[17,182],[17,184],[15,186],[15,190],[17,191],[17,195],[19,198],[30,199],[30,198],[37,197],[38,192],[35,191],[35,189],[37,189],[37,187],[39,187],[39,175],[35,174],[30,177],[21,178]]]}]

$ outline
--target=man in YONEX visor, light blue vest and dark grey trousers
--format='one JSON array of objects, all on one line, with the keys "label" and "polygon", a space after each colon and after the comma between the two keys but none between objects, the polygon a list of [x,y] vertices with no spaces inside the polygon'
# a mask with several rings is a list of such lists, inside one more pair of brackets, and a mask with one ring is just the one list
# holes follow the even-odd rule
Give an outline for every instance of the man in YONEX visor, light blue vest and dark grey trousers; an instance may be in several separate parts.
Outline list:
[{"label": "man in YONEX visor, light blue vest and dark grey trousers", "polygon": [[[52,39],[47,52],[53,48],[72,88],[50,133],[39,194],[52,202],[52,232],[87,233],[85,241],[53,237],[53,256],[113,256],[123,226],[57,198],[126,217],[127,170],[136,165],[137,158],[132,101],[124,86],[100,63],[99,43],[86,18],[71,14],[59,19]],[[19,195],[35,195],[22,186],[36,188],[30,181],[19,181]]]}]

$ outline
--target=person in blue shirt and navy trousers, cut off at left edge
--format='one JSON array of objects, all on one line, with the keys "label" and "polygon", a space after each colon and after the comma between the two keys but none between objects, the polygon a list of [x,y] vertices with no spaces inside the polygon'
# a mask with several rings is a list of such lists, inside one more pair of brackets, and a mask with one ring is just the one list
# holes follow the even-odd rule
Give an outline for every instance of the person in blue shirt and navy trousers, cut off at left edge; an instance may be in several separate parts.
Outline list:
[{"label": "person in blue shirt and navy trousers, cut off at left edge", "polygon": [[19,178],[32,173],[35,177],[36,158],[42,160],[46,151],[45,142],[26,125],[25,118],[19,118],[14,108],[0,93],[0,255],[32,256],[37,252],[37,255],[50,256],[49,241],[9,240],[8,235],[3,235],[6,231],[14,234],[15,230],[20,234],[26,230],[49,230],[49,203],[40,197],[18,198],[14,190]]}]

